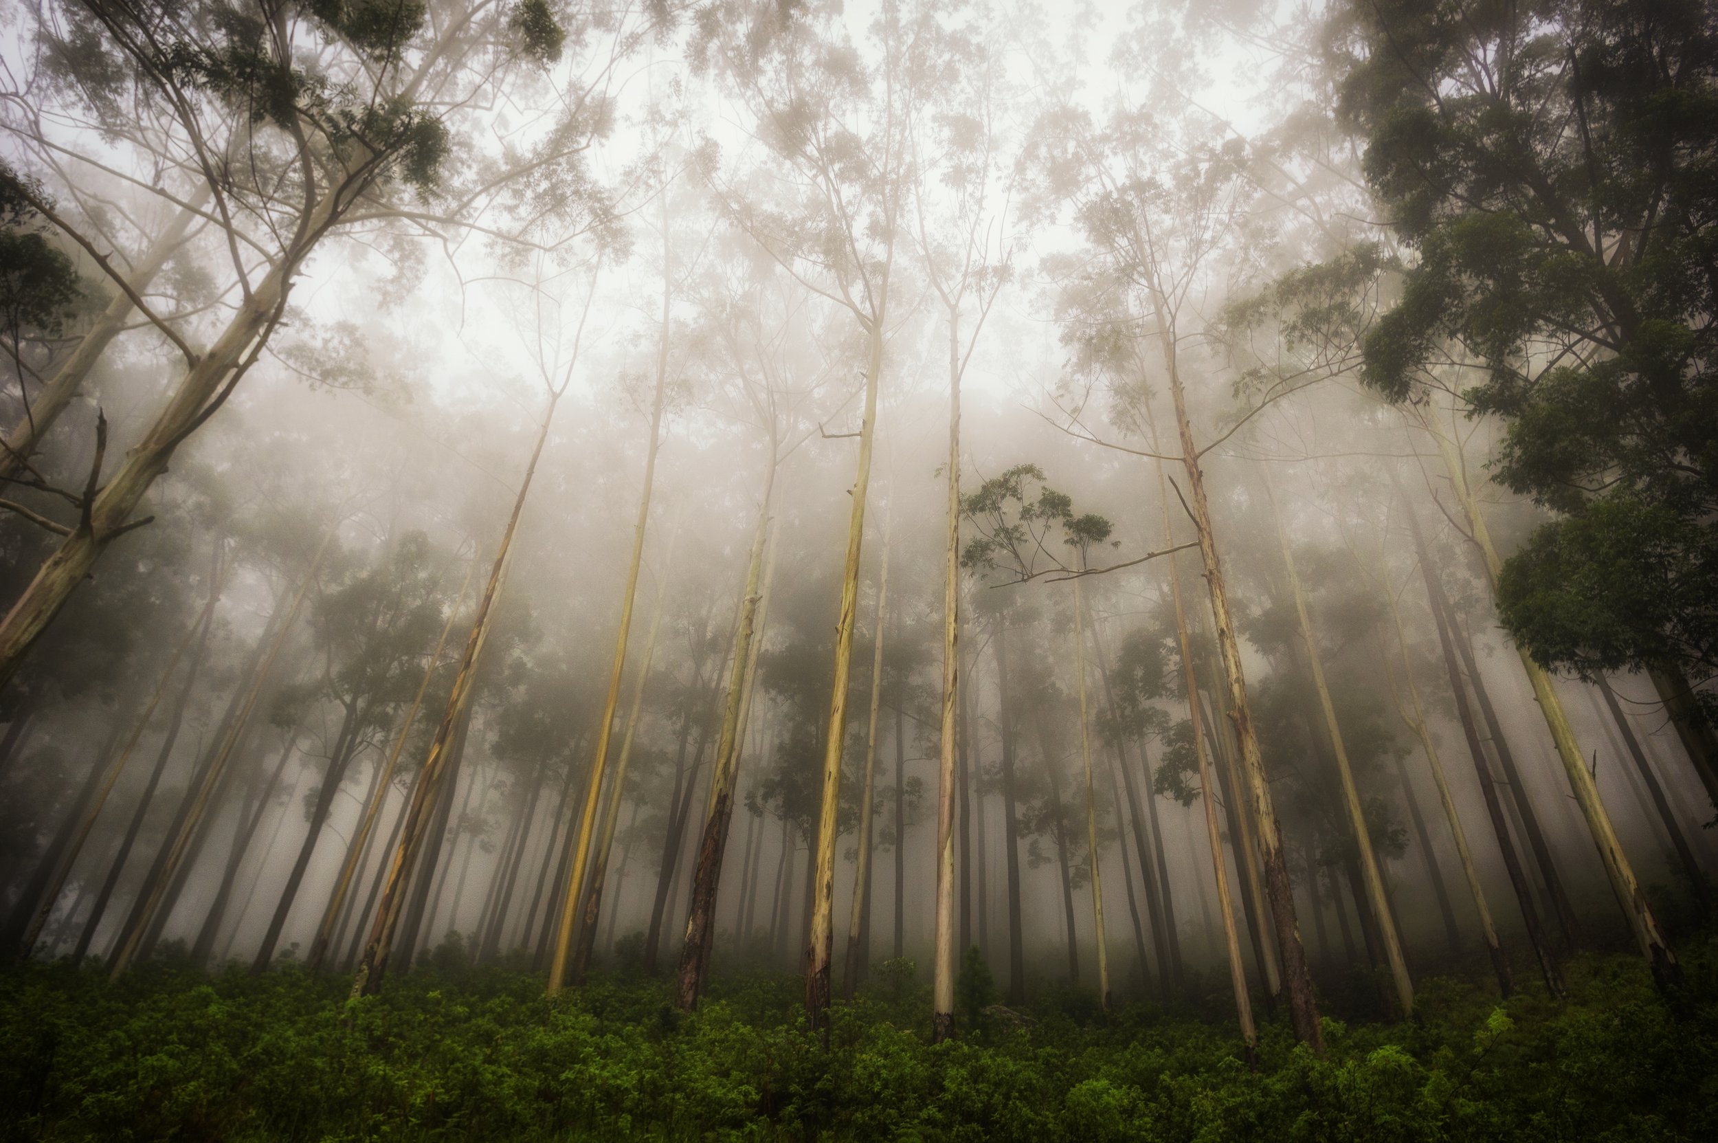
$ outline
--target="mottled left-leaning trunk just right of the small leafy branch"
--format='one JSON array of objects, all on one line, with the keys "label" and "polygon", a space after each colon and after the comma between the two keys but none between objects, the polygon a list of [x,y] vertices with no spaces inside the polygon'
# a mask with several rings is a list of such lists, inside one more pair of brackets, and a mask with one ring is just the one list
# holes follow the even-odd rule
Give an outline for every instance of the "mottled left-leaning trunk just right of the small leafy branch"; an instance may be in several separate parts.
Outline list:
[{"label": "mottled left-leaning trunk just right of the small leafy branch", "polygon": [[1294,885],[1288,880],[1288,865],[1283,859],[1276,806],[1271,801],[1271,787],[1264,775],[1264,758],[1259,753],[1258,730],[1252,725],[1251,708],[1247,706],[1247,679],[1240,663],[1240,643],[1235,638],[1235,622],[1228,612],[1228,586],[1223,579],[1221,560],[1216,555],[1216,533],[1211,528],[1211,507],[1204,495],[1199,449],[1192,440],[1192,423],[1187,419],[1187,397],[1182,392],[1180,371],[1177,368],[1175,333],[1168,328],[1163,308],[1156,306],[1154,313],[1170,375],[1170,394],[1175,400],[1175,423],[1180,430],[1182,468],[1187,473],[1187,492],[1191,495],[1189,512],[1194,517],[1194,529],[1199,535],[1199,555],[1204,560],[1204,579],[1211,595],[1211,615],[1216,622],[1216,648],[1223,660],[1223,674],[1227,675],[1228,717],[1234,720],[1235,741],[1240,746],[1240,765],[1247,784],[1247,810],[1252,813],[1252,825],[1258,827],[1259,865],[1263,866],[1264,892],[1270,899],[1271,920],[1276,928],[1276,954],[1283,988],[1288,993],[1288,1014],[1294,1023],[1295,1038],[1321,1055],[1325,1052],[1325,1033],[1318,1023],[1318,1002],[1313,997],[1313,978],[1306,966],[1306,947],[1301,944],[1301,925],[1294,909]]}]

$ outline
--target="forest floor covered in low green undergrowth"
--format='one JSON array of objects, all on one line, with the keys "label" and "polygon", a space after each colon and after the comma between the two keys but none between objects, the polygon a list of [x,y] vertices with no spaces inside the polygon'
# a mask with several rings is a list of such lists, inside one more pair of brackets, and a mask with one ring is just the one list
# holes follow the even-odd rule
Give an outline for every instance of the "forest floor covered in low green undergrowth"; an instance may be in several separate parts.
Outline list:
[{"label": "forest floor covered in low green undergrowth", "polygon": [[1562,1004],[1424,980],[1412,1021],[1326,1016],[1325,1059],[1268,1019],[1256,1073],[1216,980],[1108,1016],[1046,992],[931,1045],[928,988],[888,961],[825,1047],[787,975],[728,973],[682,1016],[658,980],[548,1000],[457,945],[356,1004],[350,978],[292,966],[14,964],[0,1138],[1718,1140],[1718,947],[1684,964],[1668,1004],[1629,956],[1570,961]]}]

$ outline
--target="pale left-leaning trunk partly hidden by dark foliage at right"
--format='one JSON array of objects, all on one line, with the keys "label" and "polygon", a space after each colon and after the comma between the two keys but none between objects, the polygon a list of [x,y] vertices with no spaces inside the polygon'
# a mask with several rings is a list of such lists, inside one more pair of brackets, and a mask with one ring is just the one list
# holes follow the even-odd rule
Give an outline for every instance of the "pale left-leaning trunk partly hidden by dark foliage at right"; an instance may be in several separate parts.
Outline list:
[{"label": "pale left-leaning trunk partly hidden by dark foliage at right", "polygon": [[[1484,555],[1486,574],[1491,578],[1491,591],[1495,595],[1498,574],[1503,571],[1503,560],[1498,559],[1496,548],[1491,545],[1491,533],[1486,529],[1484,512],[1479,510],[1479,502],[1474,500],[1472,490],[1467,486],[1467,469],[1462,464],[1462,457],[1455,449],[1455,442],[1443,431],[1443,426],[1438,425],[1436,418],[1423,407],[1416,406],[1416,411],[1419,413],[1419,423],[1426,428],[1433,440],[1438,442],[1438,452],[1443,455],[1443,464],[1448,469],[1450,485],[1455,488],[1455,495],[1462,502],[1462,510],[1467,514],[1467,524],[1472,529],[1474,543],[1479,545],[1479,552]],[[1653,906],[1648,904],[1646,894],[1641,890],[1641,883],[1634,875],[1634,866],[1622,851],[1622,842],[1617,839],[1617,830],[1611,825],[1610,813],[1599,799],[1598,784],[1593,780],[1593,773],[1587,770],[1587,763],[1581,756],[1581,744],[1575,743],[1575,732],[1569,725],[1569,717],[1563,713],[1562,700],[1557,698],[1551,677],[1543,667],[1539,667],[1538,662],[1534,662],[1526,646],[1517,646],[1515,651],[1520,655],[1522,670],[1527,672],[1527,681],[1532,684],[1534,698],[1539,701],[1539,713],[1544,715],[1544,724],[1551,730],[1551,741],[1557,743],[1557,756],[1563,763],[1563,773],[1569,775],[1569,785],[1575,794],[1575,804],[1581,806],[1581,815],[1586,818],[1587,830],[1593,834],[1593,844],[1599,851],[1605,871],[1610,875],[1611,892],[1617,894],[1617,904],[1629,920],[1629,928],[1634,932],[1636,944],[1639,944],[1641,954],[1653,969],[1653,980],[1656,980],[1661,988],[1673,987],[1682,980],[1682,966],[1677,963],[1677,954],[1670,949],[1670,940],[1665,937],[1665,932],[1658,925],[1658,918],[1653,914]]]}]

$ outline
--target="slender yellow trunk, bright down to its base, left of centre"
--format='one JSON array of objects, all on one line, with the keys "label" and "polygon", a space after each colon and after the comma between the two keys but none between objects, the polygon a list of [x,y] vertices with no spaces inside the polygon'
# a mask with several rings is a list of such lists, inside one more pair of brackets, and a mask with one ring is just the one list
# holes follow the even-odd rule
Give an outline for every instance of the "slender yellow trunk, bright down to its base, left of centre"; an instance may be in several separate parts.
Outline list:
[{"label": "slender yellow trunk, bright down to its base, left of centre", "polygon": [[[667,206],[663,208],[667,211]],[[656,454],[661,449],[661,413],[668,392],[668,318],[673,303],[668,273],[668,218],[663,213],[661,229],[661,337],[656,344],[656,392],[651,399],[649,447],[644,452],[644,486],[639,492],[639,517],[632,526],[632,560],[627,565],[627,586],[620,596],[620,629],[615,633],[615,660],[608,670],[608,694],[603,698],[603,715],[596,724],[596,753],[591,758],[591,777],[579,811],[579,828],[570,835],[572,873],[567,878],[567,897],[562,902],[560,928],[555,933],[555,956],[548,966],[548,995],[560,995],[567,983],[567,964],[572,956],[572,926],[579,913],[579,895],[584,892],[586,866],[591,859],[591,839],[596,827],[596,806],[603,792],[603,772],[608,768],[608,741],[615,729],[615,708],[620,705],[620,675],[627,667],[627,636],[632,631],[632,602],[637,596],[639,565],[644,560],[644,531],[649,524],[651,490],[656,483]]]}]

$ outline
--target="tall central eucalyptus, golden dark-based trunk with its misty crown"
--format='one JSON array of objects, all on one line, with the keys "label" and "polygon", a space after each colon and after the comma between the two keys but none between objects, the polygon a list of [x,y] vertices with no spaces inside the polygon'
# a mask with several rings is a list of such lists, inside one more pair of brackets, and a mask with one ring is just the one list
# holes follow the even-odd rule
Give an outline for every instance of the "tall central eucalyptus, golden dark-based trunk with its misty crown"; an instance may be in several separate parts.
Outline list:
[{"label": "tall central eucalyptus, golden dark-based trunk with its misty crown", "polygon": [[835,679],[823,734],[823,792],[806,1011],[821,1026],[830,1002],[835,945],[835,818],[847,737],[847,682],[859,595],[859,555],[876,425],[876,392],[885,344],[895,320],[907,196],[911,193],[911,24],[895,0],[871,26],[873,50],[852,43],[842,5],[816,0],[782,7],[773,0],[711,5],[689,52],[696,65],[720,74],[747,129],[770,151],[758,172],[780,187],[775,201],[746,198],[747,187],[711,167],[710,182],[723,210],[807,289],[844,308],[864,337],[864,413],[859,461],[850,488],[840,608],[835,624]]}]

